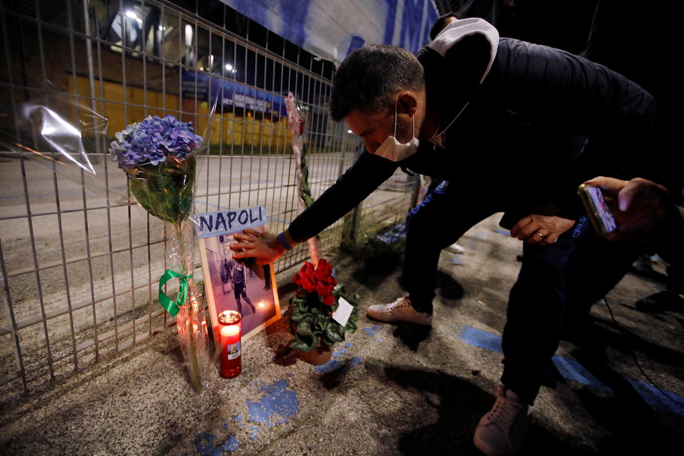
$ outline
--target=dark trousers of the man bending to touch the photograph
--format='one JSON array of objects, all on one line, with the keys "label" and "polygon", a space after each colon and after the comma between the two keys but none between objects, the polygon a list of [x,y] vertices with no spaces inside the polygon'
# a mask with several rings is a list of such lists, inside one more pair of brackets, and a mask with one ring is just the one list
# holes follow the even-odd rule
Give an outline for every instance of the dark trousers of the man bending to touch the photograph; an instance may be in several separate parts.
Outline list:
[{"label": "dark trousers of the man bending to touch the photograph", "polygon": [[[506,209],[503,198],[488,202],[477,198],[477,189],[471,186],[446,184],[410,212],[402,286],[416,310],[432,313],[440,251],[477,222]],[[589,226],[583,217],[552,245],[524,243],[523,266],[510,292],[503,331],[501,381],[529,402],[534,401],[544,369],[558,347],[565,312],[565,269]]]}]

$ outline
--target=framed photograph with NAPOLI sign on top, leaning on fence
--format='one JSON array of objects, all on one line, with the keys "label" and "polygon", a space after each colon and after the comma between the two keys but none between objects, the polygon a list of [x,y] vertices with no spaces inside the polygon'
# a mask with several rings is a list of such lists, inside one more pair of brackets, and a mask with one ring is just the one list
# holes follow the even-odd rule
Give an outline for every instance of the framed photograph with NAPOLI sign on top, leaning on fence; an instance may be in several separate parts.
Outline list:
[{"label": "framed photograph with NAPOLI sign on top, leaning on fence", "polygon": [[280,319],[280,303],[273,265],[257,265],[254,258],[233,258],[228,247],[245,228],[266,232],[264,206],[193,216],[200,244],[205,295],[213,333],[218,315],[237,310],[242,315],[242,340]]}]

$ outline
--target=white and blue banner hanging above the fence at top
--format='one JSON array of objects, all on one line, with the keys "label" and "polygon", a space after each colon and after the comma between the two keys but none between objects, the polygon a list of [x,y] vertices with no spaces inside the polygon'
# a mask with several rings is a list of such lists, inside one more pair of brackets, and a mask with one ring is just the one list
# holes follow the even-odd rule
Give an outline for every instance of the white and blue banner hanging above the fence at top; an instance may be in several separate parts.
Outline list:
[{"label": "white and blue banner hanging above the fence at top", "polygon": [[222,1],[336,65],[364,44],[395,44],[417,53],[438,17],[432,0]]}]

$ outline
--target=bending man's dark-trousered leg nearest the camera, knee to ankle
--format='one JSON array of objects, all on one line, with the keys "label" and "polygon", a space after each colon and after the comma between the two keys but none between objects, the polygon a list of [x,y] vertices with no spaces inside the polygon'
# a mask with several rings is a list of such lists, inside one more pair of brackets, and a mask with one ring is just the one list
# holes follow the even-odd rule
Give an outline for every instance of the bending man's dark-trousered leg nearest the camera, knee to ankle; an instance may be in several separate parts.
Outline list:
[{"label": "bending man's dark-trousered leg nearest the camera, knee to ankle", "polygon": [[525,242],[523,265],[510,291],[503,330],[501,383],[526,403],[533,403],[544,381],[544,368],[560,340],[566,304],[565,269],[586,233],[586,217],[544,247]]}]

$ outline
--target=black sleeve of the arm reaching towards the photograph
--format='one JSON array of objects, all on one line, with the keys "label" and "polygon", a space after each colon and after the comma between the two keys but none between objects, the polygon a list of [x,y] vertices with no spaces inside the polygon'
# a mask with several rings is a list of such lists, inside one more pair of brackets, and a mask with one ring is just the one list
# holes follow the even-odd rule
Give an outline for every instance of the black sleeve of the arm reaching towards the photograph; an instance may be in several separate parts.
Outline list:
[{"label": "black sleeve of the arm reaching towards the photograph", "polygon": [[365,200],[395,170],[397,163],[364,151],[332,187],[292,221],[290,236],[297,242],[314,237]]}]

